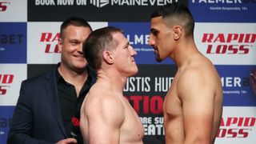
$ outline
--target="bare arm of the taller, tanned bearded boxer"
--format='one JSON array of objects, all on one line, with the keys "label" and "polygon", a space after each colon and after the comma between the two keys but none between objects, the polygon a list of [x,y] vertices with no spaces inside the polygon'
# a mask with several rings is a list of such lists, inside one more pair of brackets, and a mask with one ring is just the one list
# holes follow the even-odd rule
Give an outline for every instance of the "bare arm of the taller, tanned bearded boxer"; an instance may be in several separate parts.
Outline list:
[{"label": "bare arm of the taller, tanned bearded boxer", "polygon": [[[209,74],[208,74],[209,75]],[[210,143],[214,121],[213,82],[200,70],[189,70],[178,82],[186,143]]]}]

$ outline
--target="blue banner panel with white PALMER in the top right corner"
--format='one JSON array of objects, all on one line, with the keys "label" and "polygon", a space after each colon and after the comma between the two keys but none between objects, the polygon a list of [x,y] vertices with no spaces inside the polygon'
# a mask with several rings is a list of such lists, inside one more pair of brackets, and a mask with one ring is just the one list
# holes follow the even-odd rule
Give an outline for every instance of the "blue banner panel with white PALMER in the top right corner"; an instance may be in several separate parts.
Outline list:
[{"label": "blue banner panel with white PALMER in the top right corner", "polygon": [[255,0],[190,0],[195,22],[256,22]]}]

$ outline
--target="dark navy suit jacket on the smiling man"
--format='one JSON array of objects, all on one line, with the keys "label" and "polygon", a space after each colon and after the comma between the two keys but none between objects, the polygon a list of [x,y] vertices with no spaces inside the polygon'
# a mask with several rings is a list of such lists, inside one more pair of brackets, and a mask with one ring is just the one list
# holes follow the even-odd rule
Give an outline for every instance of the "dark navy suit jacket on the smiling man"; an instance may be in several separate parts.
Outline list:
[{"label": "dark navy suit jacket on the smiling man", "polygon": [[7,143],[55,143],[68,138],[58,100],[56,70],[22,82]]}]

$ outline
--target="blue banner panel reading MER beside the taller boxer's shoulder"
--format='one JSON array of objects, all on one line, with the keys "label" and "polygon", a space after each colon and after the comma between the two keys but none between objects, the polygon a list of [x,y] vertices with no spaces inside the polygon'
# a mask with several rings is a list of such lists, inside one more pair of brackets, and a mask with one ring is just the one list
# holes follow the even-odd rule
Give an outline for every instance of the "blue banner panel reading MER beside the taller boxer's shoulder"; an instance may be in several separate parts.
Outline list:
[{"label": "blue banner panel reading MER beside the taller boxer's shoulder", "polygon": [[216,66],[223,87],[224,106],[256,106],[251,73],[256,66]]}]

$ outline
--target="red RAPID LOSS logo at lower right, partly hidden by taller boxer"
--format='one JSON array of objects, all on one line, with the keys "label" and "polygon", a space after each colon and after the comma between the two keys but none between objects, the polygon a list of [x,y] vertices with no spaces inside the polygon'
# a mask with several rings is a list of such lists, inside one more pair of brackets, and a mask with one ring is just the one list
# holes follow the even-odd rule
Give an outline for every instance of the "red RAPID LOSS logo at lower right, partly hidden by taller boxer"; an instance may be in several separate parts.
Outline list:
[{"label": "red RAPID LOSS logo at lower right, partly hidden by taller boxer", "polygon": [[222,118],[217,138],[247,138],[255,126],[256,118]]}]

